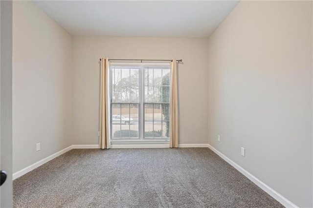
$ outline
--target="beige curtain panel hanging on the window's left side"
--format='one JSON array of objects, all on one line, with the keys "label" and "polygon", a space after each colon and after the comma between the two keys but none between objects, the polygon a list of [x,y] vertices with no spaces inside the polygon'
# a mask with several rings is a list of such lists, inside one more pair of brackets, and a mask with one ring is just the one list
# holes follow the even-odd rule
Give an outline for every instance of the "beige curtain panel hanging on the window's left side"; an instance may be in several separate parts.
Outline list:
[{"label": "beige curtain panel hanging on the window's left side", "polygon": [[101,59],[100,82],[100,148],[110,148],[109,131],[109,66],[108,58]]}]

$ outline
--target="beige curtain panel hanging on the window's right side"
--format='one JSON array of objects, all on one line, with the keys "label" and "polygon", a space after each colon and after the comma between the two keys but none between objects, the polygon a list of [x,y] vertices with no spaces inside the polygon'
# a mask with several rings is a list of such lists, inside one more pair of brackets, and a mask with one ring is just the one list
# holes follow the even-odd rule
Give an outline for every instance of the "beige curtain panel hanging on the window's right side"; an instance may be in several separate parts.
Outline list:
[{"label": "beige curtain panel hanging on the window's right side", "polygon": [[170,147],[178,147],[178,91],[177,91],[177,62],[173,59],[171,64],[171,117],[170,117]]}]

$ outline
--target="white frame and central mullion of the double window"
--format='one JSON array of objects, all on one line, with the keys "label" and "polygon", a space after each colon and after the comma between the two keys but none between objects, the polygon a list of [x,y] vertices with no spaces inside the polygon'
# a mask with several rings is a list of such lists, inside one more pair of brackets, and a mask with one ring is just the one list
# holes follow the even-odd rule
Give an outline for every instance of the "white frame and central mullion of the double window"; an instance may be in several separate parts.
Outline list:
[{"label": "white frame and central mullion of the double window", "polygon": [[[139,69],[139,95],[141,95],[139,99],[139,112],[138,112],[138,138],[125,138],[125,139],[119,139],[112,141],[112,73],[111,73],[111,66],[140,66]],[[171,66],[170,62],[111,62],[110,63],[110,82],[109,82],[109,101],[110,101],[110,144],[169,144],[170,139],[169,138],[144,138],[144,101],[145,101],[145,93],[144,90],[144,66]]]}]

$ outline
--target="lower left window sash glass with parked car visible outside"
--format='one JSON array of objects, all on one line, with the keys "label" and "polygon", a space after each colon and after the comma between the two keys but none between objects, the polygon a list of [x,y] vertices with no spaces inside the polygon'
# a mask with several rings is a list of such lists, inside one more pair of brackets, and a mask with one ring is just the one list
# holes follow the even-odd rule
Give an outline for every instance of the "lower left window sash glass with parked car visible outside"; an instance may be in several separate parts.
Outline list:
[{"label": "lower left window sash glass with parked car visible outside", "polygon": [[112,139],[139,137],[139,105],[112,104]]}]

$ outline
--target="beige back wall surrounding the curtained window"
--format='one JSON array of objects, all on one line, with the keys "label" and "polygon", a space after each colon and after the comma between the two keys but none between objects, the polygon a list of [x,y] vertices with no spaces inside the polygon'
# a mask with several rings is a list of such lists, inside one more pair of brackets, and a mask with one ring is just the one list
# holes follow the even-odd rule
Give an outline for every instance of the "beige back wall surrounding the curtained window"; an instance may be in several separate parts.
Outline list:
[{"label": "beige back wall surrounding the curtained window", "polygon": [[98,144],[99,58],[182,59],[179,144],[207,143],[207,39],[74,37],[74,145]]}]

